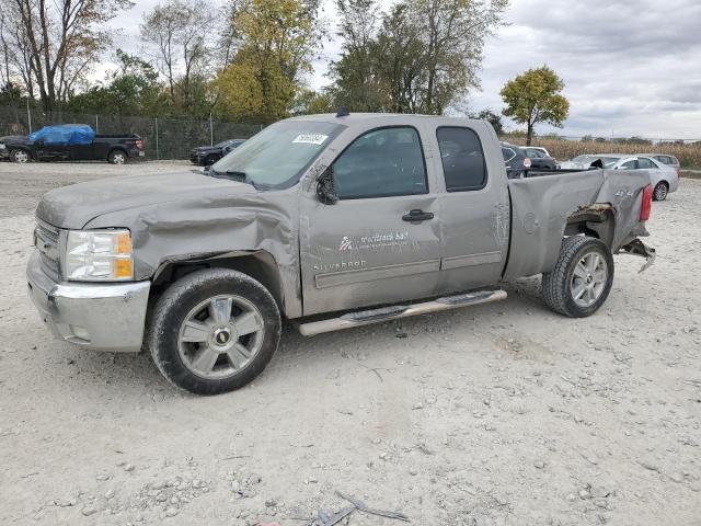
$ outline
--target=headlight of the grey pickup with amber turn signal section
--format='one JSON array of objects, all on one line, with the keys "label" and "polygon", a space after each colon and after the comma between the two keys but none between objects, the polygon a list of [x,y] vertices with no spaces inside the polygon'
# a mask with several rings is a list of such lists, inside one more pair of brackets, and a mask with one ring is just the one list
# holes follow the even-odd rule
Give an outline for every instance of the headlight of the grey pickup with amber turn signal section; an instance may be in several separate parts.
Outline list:
[{"label": "headlight of the grey pickup with amber turn signal section", "polygon": [[70,230],[65,276],[76,282],[134,279],[129,230]]}]

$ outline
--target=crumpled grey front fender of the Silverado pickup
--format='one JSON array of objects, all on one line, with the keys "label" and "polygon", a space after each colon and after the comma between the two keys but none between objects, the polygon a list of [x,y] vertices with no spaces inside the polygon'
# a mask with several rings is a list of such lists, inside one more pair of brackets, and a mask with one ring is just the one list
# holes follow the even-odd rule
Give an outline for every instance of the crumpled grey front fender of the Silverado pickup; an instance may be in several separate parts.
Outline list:
[{"label": "crumpled grey front fender of the Silverado pickup", "polygon": [[297,186],[216,196],[113,211],[85,228],[119,225],[131,230],[135,278],[149,279],[164,263],[229,252],[265,251],[277,263],[288,317],[301,312]]}]

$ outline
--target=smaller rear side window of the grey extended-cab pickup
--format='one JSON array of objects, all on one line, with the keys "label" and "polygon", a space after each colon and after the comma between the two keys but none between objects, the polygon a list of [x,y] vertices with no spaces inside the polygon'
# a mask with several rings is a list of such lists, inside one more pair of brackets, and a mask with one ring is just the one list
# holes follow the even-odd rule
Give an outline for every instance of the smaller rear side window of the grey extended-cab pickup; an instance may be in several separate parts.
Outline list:
[{"label": "smaller rear side window of the grey extended-cab pickup", "polygon": [[486,185],[486,163],[478,134],[470,128],[440,127],[436,130],[443,173],[448,192],[469,192]]}]

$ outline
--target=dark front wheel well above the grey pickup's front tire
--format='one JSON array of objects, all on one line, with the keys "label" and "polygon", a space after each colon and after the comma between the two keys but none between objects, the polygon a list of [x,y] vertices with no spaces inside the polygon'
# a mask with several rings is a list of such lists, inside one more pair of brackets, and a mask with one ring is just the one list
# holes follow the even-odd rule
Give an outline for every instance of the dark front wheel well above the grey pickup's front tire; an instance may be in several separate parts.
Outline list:
[{"label": "dark front wheel well above the grey pickup's front tire", "polygon": [[275,258],[264,250],[164,263],[153,278],[152,294],[160,296],[172,283],[202,268],[230,268],[251,276],[273,295],[280,312],[285,311],[283,281],[277,263]]}]

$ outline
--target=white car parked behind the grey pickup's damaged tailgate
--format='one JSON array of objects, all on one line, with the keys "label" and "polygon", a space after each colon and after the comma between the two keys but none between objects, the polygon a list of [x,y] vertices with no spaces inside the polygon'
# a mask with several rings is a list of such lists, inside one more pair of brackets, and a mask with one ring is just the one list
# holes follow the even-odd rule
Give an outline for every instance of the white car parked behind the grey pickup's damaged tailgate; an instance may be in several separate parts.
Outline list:
[{"label": "white car parked behind the grey pickup's damaged tailgate", "polygon": [[650,173],[653,198],[665,201],[667,195],[679,187],[679,173],[673,165],[665,164],[652,156],[628,156],[620,153],[584,155],[563,162],[566,170],[587,170],[591,163],[601,161],[608,170],[644,170]]}]

